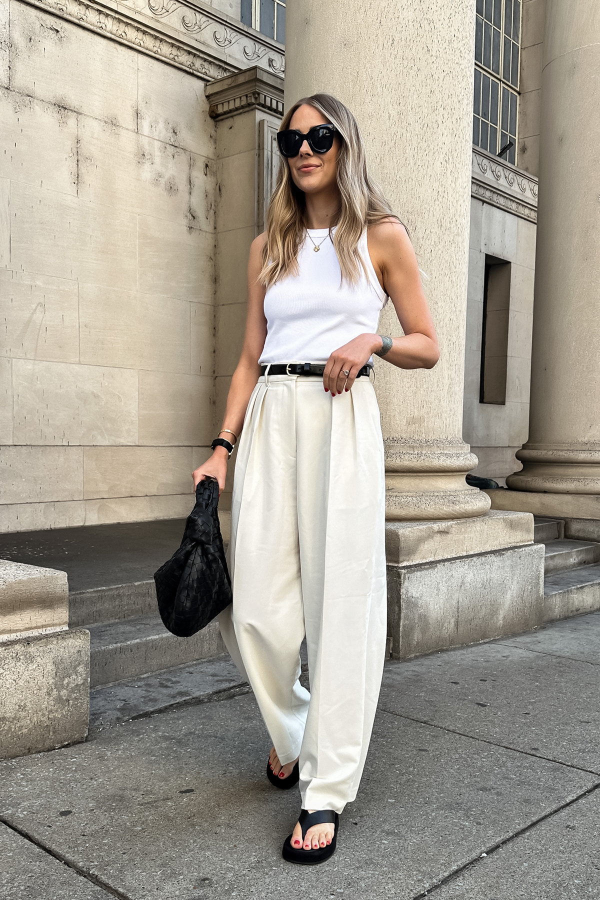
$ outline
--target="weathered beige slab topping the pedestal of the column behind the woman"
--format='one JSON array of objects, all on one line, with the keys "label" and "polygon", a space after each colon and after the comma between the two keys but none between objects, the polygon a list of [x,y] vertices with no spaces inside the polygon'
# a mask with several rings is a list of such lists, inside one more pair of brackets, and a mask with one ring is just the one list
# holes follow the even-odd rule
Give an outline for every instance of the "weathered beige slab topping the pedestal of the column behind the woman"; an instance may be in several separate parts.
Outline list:
[{"label": "weathered beige slab topping the pedestal of the column behind the woman", "polygon": [[489,511],[475,518],[386,522],[388,563],[415,565],[533,543],[533,516]]}]

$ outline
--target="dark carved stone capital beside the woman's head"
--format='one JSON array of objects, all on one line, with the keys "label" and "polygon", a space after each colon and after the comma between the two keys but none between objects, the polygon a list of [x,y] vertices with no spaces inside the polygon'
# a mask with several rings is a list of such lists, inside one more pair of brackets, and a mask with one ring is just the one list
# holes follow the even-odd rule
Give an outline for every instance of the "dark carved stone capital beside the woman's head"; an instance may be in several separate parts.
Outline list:
[{"label": "dark carved stone capital beside the woman's head", "polygon": [[212,81],[204,93],[212,119],[224,119],[251,109],[270,112],[277,118],[283,115],[283,78],[258,66]]}]

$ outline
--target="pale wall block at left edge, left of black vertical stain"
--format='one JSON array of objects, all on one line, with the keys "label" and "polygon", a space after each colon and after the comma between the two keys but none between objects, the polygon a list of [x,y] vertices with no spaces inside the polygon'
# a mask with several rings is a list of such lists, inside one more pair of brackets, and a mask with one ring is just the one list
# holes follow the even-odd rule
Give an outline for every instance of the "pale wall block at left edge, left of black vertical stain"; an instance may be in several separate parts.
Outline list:
[{"label": "pale wall block at left edge, left of black vertical stain", "polygon": [[77,193],[77,116],[54,103],[0,90],[0,175]]}]

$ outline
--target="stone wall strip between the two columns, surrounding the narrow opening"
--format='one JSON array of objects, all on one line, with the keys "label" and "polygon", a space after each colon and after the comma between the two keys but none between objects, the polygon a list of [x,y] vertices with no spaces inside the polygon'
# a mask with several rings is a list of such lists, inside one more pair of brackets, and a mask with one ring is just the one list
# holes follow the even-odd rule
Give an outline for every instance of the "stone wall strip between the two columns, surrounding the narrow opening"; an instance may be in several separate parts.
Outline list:
[{"label": "stone wall strip between the two columns, surrounding the narrow opening", "polygon": [[[463,437],[477,455],[474,473],[504,484],[521,467],[527,439],[532,356],[537,180],[473,150],[465,347]],[[481,402],[481,347],[486,259],[510,264],[506,315],[505,402]]]}]

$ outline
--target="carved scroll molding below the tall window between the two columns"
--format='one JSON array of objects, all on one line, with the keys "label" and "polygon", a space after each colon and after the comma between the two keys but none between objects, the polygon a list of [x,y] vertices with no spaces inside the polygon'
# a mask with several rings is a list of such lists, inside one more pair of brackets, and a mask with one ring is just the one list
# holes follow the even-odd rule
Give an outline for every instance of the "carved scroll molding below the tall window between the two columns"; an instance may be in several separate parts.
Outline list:
[{"label": "carved scroll molding below the tall window between the two columns", "polygon": [[537,221],[537,178],[479,148],[473,148],[470,193],[521,219]]}]

